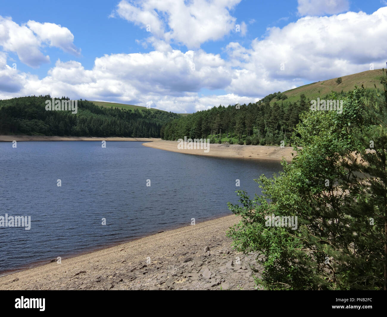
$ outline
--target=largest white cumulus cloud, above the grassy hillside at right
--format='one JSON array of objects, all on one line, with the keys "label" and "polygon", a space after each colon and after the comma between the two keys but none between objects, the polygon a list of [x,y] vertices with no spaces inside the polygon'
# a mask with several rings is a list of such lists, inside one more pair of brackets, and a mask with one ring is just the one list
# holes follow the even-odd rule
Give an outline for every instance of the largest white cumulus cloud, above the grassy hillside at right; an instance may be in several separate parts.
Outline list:
[{"label": "largest white cumulus cloud, above the grassy hillside at right", "polygon": [[[251,48],[230,43],[226,51],[238,65],[228,91],[248,95],[284,91],[313,82],[384,66],[387,55],[387,7],[373,14],[347,12],[331,17],[304,17],[282,29],[268,29]],[[356,34],[356,36],[354,36]],[[372,48],[372,49],[365,49]],[[255,91],[257,88],[255,88]]]}]

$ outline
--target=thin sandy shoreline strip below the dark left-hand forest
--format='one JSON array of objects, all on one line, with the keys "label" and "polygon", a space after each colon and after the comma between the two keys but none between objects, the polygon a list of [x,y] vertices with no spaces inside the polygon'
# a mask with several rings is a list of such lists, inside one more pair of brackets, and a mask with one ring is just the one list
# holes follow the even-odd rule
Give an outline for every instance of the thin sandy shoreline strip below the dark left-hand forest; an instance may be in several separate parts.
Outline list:
[{"label": "thin sandy shoreline strip below the dark left-hand forest", "polygon": [[0,135],[0,142],[22,141],[159,141],[159,138],[146,137],[60,137],[57,135]]}]

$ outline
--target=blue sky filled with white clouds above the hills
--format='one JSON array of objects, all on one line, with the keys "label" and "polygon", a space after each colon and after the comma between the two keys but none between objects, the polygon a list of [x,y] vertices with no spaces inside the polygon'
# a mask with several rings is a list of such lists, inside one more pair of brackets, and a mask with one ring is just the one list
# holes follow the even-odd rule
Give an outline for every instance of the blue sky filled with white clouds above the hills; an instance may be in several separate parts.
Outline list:
[{"label": "blue sky filled with white clouds above the hills", "polygon": [[386,62],[386,0],[0,3],[0,99],[192,113]]}]

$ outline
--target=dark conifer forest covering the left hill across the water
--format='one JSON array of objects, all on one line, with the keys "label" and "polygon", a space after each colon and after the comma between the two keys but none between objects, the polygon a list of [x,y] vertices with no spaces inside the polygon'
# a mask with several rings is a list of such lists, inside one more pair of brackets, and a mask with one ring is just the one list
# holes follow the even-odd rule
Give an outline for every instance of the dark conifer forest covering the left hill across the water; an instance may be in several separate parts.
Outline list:
[{"label": "dark conifer forest covering the left hill across the water", "polygon": [[96,106],[82,99],[77,114],[46,111],[45,101],[50,99],[46,95],[0,100],[0,134],[160,137],[163,124],[179,117],[161,110]]}]

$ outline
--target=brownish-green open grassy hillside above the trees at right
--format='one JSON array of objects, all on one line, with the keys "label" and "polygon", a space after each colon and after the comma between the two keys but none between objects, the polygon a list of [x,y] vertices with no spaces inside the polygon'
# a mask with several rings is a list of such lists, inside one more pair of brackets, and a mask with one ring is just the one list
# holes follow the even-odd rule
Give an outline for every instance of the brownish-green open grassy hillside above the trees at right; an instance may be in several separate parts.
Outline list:
[{"label": "brownish-green open grassy hillside above the trees at right", "polygon": [[[344,91],[344,93],[346,93],[353,89],[355,85],[358,87],[364,85],[364,88],[366,89],[374,89],[375,87],[373,85],[375,84],[377,88],[382,89],[383,85],[380,84],[382,73],[382,69],[366,70],[365,72],[342,76],[342,82],[340,84],[336,83],[337,78],[332,78],[290,89],[284,91],[283,94],[288,96],[286,101],[293,102],[299,100],[301,94],[305,94],[307,100],[312,100],[317,99],[317,97],[322,98],[332,90],[337,92]],[[275,101],[277,101],[277,99],[273,99],[271,104]]]}]

